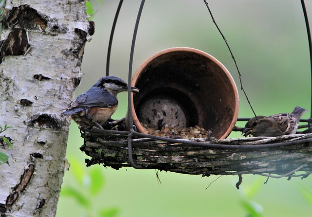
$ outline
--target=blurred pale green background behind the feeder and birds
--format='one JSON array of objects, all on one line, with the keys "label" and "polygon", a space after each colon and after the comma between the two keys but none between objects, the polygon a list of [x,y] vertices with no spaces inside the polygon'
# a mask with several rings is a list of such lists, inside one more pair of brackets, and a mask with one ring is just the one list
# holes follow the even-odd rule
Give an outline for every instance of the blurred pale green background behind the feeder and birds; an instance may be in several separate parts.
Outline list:
[{"label": "blurred pale green background behind the feeder and birds", "polygon": [[[96,12],[95,35],[86,44],[77,95],[105,75],[107,46],[118,0],[91,1]],[[131,40],[140,0],[123,2],[115,31],[110,74],[127,80]],[[308,39],[299,0],[209,0],[242,73],[245,90],[257,115],[310,113]],[[312,1],[306,0],[312,23]],[[231,72],[240,95],[239,117],[253,113],[240,91],[231,55],[202,0],[147,0],[135,47],[133,73],[150,55],[176,46],[192,47],[217,58]],[[127,93],[119,94],[113,118],[125,116]],[[243,127],[245,123],[239,122]],[[231,134],[240,137],[240,133]],[[67,148],[71,163],[65,172],[57,217],[311,217],[312,176],[301,180],[243,176],[181,175],[154,170],[103,166],[86,168],[88,158],[78,126],[72,123]],[[217,181],[215,181],[219,178]],[[215,181],[215,182],[213,182]],[[207,186],[213,182],[208,188]],[[207,188],[207,189],[206,189]],[[87,200],[87,201],[86,201]]]}]

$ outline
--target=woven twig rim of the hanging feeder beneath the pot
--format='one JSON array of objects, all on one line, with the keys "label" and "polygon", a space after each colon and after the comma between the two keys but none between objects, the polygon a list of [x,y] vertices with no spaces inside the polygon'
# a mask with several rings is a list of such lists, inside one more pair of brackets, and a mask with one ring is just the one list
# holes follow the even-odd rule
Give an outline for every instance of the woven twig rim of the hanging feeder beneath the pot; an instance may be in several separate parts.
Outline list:
[{"label": "woven twig rim of the hanging feeder beneath the pot", "polygon": [[[131,166],[127,133],[84,132],[82,137],[84,145],[80,149],[91,157],[86,159],[87,166],[97,163],[115,169]],[[312,134],[228,138],[211,142],[220,146],[239,145],[238,148],[203,147],[183,144],[183,141],[132,139],[134,162],[145,169],[202,176],[259,174],[273,178],[306,178],[312,173]],[[201,144],[205,139],[189,141]],[[284,145],[285,142],[293,143]],[[280,143],[280,146],[263,147],[272,143]],[[250,145],[254,148],[247,148]]]}]

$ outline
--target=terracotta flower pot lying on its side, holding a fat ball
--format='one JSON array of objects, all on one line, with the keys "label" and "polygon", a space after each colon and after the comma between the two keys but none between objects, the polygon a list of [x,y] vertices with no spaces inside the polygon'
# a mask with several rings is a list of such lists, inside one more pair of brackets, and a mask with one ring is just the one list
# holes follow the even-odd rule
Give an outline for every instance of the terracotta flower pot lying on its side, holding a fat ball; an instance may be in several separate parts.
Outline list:
[{"label": "terracotta flower pot lying on its side, holding a fat ball", "polygon": [[228,70],[203,51],[175,47],[147,58],[137,69],[132,86],[134,125],[204,127],[225,139],[235,125],[239,99]]}]

